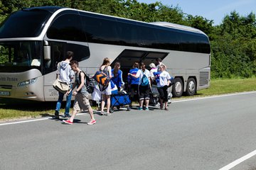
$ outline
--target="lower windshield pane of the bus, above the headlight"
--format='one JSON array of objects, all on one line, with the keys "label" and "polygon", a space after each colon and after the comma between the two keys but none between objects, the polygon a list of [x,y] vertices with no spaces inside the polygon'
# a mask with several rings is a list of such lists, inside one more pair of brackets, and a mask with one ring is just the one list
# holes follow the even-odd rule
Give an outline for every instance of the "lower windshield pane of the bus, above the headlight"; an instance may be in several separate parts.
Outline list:
[{"label": "lower windshield pane of the bus, above the headlight", "polygon": [[41,70],[41,41],[0,42],[0,72]]}]

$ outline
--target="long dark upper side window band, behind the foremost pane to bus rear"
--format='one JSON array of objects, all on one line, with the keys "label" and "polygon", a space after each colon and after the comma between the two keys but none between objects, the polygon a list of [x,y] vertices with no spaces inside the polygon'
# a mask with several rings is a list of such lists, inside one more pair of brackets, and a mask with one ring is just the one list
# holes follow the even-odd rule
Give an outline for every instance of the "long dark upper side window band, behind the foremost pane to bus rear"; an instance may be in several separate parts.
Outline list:
[{"label": "long dark upper side window band, behind the foremost pane to bus rear", "polygon": [[210,53],[206,35],[93,13],[80,15],[88,42]]}]

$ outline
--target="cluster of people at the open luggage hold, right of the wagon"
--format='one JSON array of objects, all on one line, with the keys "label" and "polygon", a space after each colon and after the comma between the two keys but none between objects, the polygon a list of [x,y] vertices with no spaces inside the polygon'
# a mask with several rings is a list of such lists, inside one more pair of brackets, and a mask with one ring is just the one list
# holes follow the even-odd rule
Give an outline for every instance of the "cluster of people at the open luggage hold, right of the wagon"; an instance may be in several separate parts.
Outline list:
[{"label": "cluster of people at the open luggage hold, right of the wagon", "polygon": [[133,68],[128,73],[128,81],[130,82],[131,97],[134,96],[134,90],[139,91],[139,111],[143,110],[145,103],[145,111],[149,111],[149,99],[151,93],[151,85],[156,83],[159,91],[160,109],[169,110],[168,104],[168,87],[171,83],[171,76],[166,71],[166,65],[161,59],[156,59],[157,66],[154,63],[149,64],[150,71],[146,69],[146,65],[142,62],[140,69],[137,67],[139,63],[135,62]]}]

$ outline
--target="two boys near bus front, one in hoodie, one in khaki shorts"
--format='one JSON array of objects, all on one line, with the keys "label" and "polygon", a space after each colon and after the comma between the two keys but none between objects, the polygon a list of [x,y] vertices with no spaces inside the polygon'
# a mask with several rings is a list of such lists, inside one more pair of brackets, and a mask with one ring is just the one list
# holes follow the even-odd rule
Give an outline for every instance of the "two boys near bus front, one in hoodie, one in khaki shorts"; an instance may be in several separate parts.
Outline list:
[{"label": "two boys near bus front, one in hoodie, one in khaki shorts", "polygon": [[[78,61],[72,59],[73,52],[68,51],[66,53],[65,60],[58,63],[56,77],[60,79],[60,81],[70,84],[70,90],[67,91],[66,94],[59,92],[59,97],[55,108],[55,118],[59,118],[60,106],[63,101],[64,95],[67,96],[64,117],[70,117],[69,110],[71,106],[71,98],[73,95],[75,96],[75,101],[72,115],[68,120],[63,120],[63,122],[72,125],[75,115],[78,113],[78,111],[87,110],[90,113],[91,118],[90,122],[88,122],[87,125],[93,125],[96,123],[96,120],[90,106],[89,93],[87,92],[87,89],[85,87],[85,73],[82,72],[82,70],[79,68]],[[75,83],[73,84],[74,78]],[[76,90],[73,91],[75,87]]]}]

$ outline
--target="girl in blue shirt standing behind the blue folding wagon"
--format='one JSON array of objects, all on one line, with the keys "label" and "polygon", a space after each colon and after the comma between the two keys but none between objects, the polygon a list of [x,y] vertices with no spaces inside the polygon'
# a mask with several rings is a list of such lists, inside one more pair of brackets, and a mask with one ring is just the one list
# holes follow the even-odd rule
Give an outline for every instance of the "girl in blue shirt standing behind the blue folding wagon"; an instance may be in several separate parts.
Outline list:
[{"label": "girl in blue shirt standing behind the blue folding wagon", "polygon": [[120,91],[122,85],[124,84],[124,81],[122,79],[122,70],[120,70],[120,62],[114,63],[114,69],[111,70],[112,72],[112,81],[115,85],[117,85],[118,91]]}]

